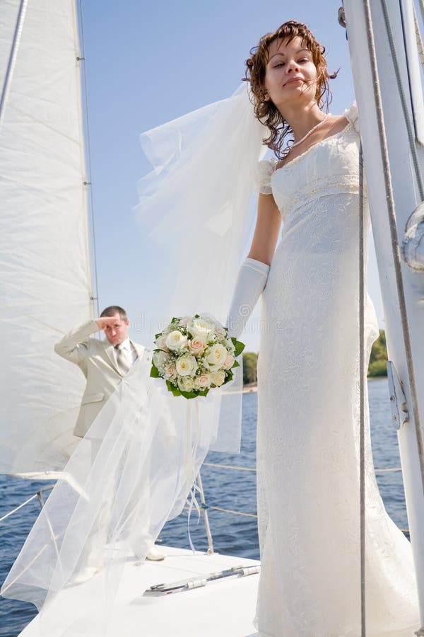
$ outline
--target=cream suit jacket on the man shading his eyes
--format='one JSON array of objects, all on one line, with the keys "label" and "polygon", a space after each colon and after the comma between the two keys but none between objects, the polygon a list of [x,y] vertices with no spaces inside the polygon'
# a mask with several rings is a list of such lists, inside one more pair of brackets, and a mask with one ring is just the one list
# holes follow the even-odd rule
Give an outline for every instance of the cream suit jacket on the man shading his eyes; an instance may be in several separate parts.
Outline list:
[{"label": "cream suit jacket on the man shading his eyes", "polygon": [[[91,338],[91,335],[98,331],[98,324],[95,321],[87,321],[66,333],[54,345],[54,351],[78,365],[87,379],[86,390],[73,430],[73,433],[80,437],[86,435],[100,409],[124,377],[117,367],[114,346],[108,340]],[[140,357],[145,350],[143,345],[134,343],[133,340],[130,343]]]}]

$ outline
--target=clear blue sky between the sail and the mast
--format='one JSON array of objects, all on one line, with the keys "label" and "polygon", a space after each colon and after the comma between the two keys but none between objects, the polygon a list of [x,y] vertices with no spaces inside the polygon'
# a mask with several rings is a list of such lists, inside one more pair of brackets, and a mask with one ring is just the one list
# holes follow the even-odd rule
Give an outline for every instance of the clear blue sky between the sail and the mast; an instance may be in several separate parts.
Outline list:
[{"label": "clear blue sky between the sail and the mast", "polygon": [[[326,47],[329,69],[340,69],[331,83],[331,113],[343,112],[354,92],[345,30],[337,21],[340,4],[83,2],[100,306],[125,306],[134,338],[143,286],[152,279],[133,214],[137,181],[150,170],[139,134],[228,97],[244,74],[249,49],[289,19],[307,23]],[[369,289],[383,326],[373,255]],[[243,340],[247,350],[258,350],[259,335],[249,328]]]}]

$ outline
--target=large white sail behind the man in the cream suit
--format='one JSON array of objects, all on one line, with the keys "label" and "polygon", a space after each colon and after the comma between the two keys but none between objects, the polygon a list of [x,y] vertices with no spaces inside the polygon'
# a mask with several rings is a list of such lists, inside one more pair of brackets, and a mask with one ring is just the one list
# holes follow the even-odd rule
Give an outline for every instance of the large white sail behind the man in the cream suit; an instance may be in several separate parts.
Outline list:
[{"label": "large white sail behind the man in the cream suit", "polygon": [[[90,317],[74,0],[0,6],[0,471],[63,468],[83,377],[54,343]],[[48,474],[47,474],[48,477]]]}]

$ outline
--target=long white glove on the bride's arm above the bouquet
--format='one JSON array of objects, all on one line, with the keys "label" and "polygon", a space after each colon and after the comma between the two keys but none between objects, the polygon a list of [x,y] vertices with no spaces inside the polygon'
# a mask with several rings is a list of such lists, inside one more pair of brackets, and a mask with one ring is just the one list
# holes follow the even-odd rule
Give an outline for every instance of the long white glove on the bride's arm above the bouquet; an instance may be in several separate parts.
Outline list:
[{"label": "long white glove on the bride's arm above the bouquet", "polygon": [[228,336],[238,338],[265,287],[269,265],[247,258],[240,268],[228,314]]}]

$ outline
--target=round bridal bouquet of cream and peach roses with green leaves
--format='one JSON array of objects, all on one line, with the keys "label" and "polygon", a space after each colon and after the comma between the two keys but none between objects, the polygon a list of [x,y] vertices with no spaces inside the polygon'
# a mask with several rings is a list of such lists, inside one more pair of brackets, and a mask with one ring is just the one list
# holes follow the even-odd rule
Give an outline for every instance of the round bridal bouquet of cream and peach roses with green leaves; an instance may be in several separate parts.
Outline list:
[{"label": "round bridal bouquet of cream and peach roses with green leaves", "polygon": [[245,345],[228,338],[228,328],[215,319],[196,314],[174,318],[155,335],[151,377],[163,378],[174,396],[206,396],[214,387],[228,383],[235,358]]}]

